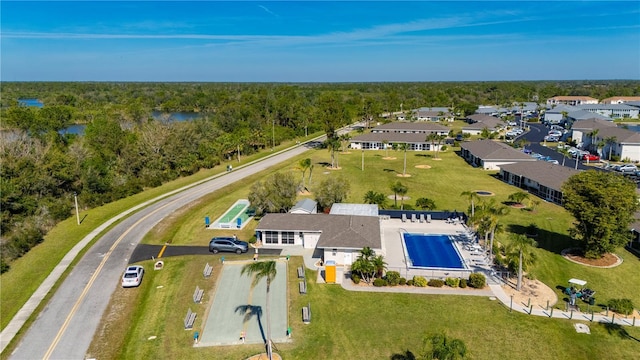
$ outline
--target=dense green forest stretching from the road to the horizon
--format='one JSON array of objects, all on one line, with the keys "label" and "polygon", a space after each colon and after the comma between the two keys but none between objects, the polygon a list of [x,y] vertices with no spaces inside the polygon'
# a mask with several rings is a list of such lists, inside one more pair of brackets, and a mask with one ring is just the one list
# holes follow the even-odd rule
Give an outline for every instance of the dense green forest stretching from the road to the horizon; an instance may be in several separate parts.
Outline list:
[{"label": "dense green forest stretching from the road to the horizon", "polygon": [[[556,95],[639,96],[639,81],[451,83],[3,82],[0,269],[72,215],[225,159],[401,109],[544,101]],[[42,107],[21,105],[38,99]],[[196,113],[170,121],[154,113]],[[84,134],[64,129],[85,125]]]}]

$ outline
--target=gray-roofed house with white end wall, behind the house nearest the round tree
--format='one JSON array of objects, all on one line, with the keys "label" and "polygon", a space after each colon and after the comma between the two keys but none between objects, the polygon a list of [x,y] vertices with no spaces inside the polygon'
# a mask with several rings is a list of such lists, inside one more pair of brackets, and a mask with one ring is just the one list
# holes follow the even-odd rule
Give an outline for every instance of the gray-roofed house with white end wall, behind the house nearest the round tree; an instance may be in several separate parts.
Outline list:
[{"label": "gray-roofed house with white end wall, behind the house nearest the round tree", "polygon": [[476,140],[460,144],[461,156],[469,164],[485,170],[499,170],[500,165],[534,163],[538,160],[511,146],[493,140]]}]

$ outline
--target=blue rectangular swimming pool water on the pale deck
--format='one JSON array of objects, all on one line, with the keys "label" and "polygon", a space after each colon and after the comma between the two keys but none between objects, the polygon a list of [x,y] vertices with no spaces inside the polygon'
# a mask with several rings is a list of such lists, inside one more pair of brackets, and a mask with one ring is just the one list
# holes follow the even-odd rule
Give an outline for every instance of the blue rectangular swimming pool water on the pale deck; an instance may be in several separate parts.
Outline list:
[{"label": "blue rectangular swimming pool water on the pale deck", "polygon": [[414,267],[464,269],[448,235],[403,234]]}]

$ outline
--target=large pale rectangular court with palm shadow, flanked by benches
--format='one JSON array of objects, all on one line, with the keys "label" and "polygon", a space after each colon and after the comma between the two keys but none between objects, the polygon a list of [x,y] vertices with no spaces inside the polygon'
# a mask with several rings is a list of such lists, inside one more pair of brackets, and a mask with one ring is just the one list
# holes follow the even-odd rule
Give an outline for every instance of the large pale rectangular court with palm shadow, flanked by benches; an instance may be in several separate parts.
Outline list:
[{"label": "large pale rectangular court with palm shadow, flanked by benches", "polygon": [[[252,260],[249,260],[252,261]],[[251,287],[252,277],[241,275],[249,261],[227,261],[222,267],[209,316],[206,319],[198,346],[264,343],[267,335],[266,280]],[[271,339],[286,342],[287,338],[287,264],[276,261],[276,278],[270,288]]]}]

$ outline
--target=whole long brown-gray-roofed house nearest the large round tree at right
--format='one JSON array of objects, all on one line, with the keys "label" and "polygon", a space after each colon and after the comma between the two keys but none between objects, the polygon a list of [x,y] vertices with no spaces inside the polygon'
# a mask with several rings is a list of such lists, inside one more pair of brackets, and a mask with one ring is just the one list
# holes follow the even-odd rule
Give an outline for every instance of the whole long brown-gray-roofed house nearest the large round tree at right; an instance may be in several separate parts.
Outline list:
[{"label": "whole long brown-gray-roofed house nearest the large round tree at right", "polygon": [[500,178],[546,201],[562,205],[562,185],[579,171],[547,161],[499,165]]}]

